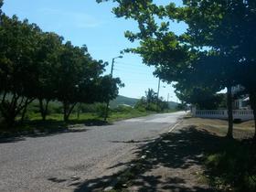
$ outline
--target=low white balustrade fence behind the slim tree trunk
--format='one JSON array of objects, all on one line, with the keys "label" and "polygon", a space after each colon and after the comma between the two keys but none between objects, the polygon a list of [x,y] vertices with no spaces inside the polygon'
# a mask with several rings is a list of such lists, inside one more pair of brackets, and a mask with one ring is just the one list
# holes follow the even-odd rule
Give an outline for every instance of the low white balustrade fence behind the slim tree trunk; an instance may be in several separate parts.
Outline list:
[{"label": "low white balustrade fence behind the slim tree trunk", "polygon": [[[228,110],[192,110],[195,117],[211,119],[228,119]],[[241,121],[253,120],[252,110],[233,110],[233,119]]]}]

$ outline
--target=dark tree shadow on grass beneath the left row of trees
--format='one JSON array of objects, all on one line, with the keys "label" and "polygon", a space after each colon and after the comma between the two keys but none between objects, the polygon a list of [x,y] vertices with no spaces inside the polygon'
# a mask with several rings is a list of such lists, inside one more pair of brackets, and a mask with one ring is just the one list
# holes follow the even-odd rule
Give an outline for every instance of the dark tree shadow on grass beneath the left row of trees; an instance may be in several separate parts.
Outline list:
[{"label": "dark tree shadow on grass beneath the left row of trees", "polygon": [[13,129],[0,130],[0,144],[24,141],[26,137],[44,137],[60,133],[86,132],[91,126],[105,126],[111,123],[99,120],[70,120],[65,123],[58,120],[27,121],[22,125],[17,124]]}]

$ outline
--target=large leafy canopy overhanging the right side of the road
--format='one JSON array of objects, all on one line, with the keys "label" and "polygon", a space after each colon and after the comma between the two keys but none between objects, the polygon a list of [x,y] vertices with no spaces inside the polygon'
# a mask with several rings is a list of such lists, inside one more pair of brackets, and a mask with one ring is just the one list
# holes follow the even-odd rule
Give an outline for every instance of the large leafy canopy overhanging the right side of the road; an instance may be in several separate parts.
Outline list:
[{"label": "large leafy canopy overhanging the right side of the road", "polygon": [[[232,85],[244,85],[256,98],[255,1],[184,0],[179,7],[153,0],[113,1],[116,16],[137,21],[139,31],[127,31],[125,37],[140,44],[129,50],[141,55],[145,64],[154,65],[155,75],[169,82],[227,87],[229,122]],[[185,22],[187,31],[177,36],[170,25],[173,21]],[[256,103],[252,106],[256,112]]]}]

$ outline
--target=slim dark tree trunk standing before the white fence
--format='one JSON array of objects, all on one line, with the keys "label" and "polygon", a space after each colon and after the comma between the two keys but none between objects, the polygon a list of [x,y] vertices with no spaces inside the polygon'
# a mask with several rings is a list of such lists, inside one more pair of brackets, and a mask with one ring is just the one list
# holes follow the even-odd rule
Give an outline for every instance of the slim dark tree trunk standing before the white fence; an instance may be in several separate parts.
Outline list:
[{"label": "slim dark tree trunk standing before the white fence", "polygon": [[227,137],[229,139],[233,138],[233,107],[232,107],[232,92],[231,92],[231,86],[227,87],[227,106],[228,106],[228,116],[229,116],[229,130],[227,133]]}]

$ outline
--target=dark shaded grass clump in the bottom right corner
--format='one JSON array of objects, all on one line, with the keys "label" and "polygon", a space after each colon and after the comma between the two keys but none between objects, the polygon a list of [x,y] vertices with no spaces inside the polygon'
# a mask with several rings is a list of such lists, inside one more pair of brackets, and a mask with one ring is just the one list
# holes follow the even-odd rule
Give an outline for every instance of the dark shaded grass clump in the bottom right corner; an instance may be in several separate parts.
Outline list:
[{"label": "dark shaded grass clump in the bottom right corner", "polygon": [[209,184],[223,191],[256,191],[255,144],[227,140],[206,155]]}]

